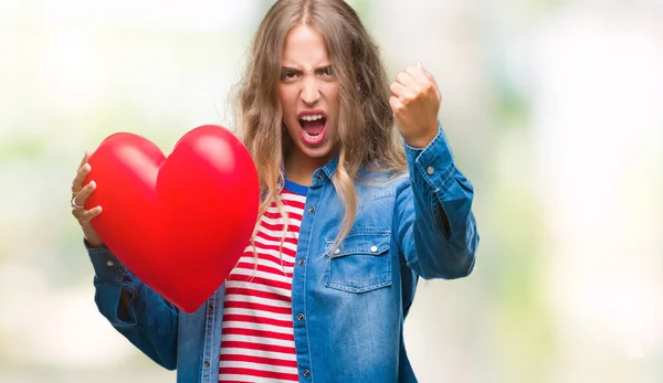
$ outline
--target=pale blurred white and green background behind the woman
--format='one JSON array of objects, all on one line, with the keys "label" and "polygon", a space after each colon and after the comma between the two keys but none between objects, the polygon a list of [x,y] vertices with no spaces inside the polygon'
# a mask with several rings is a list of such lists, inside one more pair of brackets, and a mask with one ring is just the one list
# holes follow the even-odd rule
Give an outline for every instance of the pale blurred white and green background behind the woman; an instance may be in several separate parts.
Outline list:
[{"label": "pale blurred white and green background behind the woman", "polygon": [[[271,3],[0,1],[0,382],[175,382],[98,315],[71,181],[116,131],[232,128]],[[476,191],[475,272],[407,320],[420,380],[662,382],[663,1],[350,3],[390,76],[435,75]]]}]

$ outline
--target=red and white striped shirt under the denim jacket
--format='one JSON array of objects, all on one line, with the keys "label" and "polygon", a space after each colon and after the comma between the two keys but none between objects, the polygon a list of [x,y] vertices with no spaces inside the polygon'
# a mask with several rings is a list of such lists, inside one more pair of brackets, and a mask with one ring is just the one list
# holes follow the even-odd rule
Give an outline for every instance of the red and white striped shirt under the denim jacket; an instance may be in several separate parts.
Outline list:
[{"label": "red and white striped shirt under the denim jacket", "polygon": [[292,278],[307,188],[286,180],[254,238],[225,281],[219,382],[297,382],[292,311]]}]

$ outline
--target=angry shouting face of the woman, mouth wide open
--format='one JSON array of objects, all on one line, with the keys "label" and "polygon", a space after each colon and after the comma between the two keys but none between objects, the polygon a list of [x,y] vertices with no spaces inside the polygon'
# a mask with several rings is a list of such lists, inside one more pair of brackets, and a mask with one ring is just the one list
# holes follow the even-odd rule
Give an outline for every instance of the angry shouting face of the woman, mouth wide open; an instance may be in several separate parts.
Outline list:
[{"label": "angry shouting face of the woman, mouth wide open", "polygon": [[338,85],[323,36],[298,25],[287,34],[278,98],[283,123],[294,141],[286,156],[322,167],[336,155]]}]

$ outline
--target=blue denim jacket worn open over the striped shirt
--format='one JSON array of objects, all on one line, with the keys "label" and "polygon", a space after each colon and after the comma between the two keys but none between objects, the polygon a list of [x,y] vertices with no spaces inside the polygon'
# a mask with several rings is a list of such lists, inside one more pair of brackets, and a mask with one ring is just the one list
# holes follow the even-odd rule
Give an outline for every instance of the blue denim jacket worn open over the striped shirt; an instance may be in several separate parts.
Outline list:
[{"label": "blue denim jacket worn open over the striped shirt", "polygon": [[[425,149],[406,151],[409,177],[356,184],[356,222],[333,254],[327,249],[343,220],[330,182],[337,160],[313,174],[292,285],[299,382],[417,382],[403,343],[417,280],[472,272],[473,188],[455,168],[442,128]],[[196,312],[179,312],[108,249],[87,249],[95,301],[113,327],[155,362],[177,369],[178,382],[218,382],[224,286]],[[128,312],[122,289],[131,295]]]}]

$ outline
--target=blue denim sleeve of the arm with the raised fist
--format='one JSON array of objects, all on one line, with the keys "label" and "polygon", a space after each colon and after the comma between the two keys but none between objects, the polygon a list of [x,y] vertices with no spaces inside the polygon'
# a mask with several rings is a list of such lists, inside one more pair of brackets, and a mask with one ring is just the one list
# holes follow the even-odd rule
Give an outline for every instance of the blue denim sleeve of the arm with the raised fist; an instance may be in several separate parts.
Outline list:
[{"label": "blue denim sleeve of the arm with the raised fist", "polygon": [[396,204],[398,240],[408,266],[424,279],[465,277],[478,246],[474,190],[455,168],[442,127],[424,149],[406,145],[410,181]]}]

